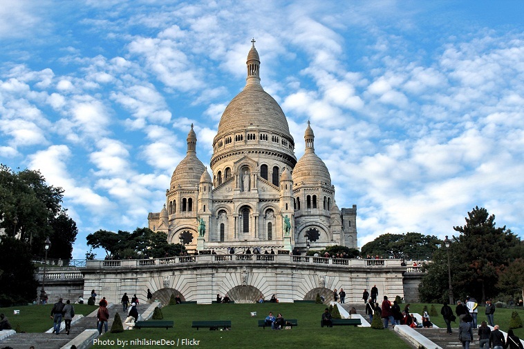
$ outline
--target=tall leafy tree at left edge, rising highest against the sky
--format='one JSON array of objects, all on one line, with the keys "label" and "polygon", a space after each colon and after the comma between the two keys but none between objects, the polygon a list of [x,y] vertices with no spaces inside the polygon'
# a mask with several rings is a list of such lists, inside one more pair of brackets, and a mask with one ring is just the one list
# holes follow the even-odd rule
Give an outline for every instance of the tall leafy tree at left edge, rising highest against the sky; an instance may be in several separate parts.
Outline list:
[{"label": "tall leafy tree at left edge, rising highest against the sky", "polygon": [[64,189],[48,186],[38,170],[15,172],[0,165],[0,228],[11,237],[16,232],[31,255],[44,257],[49,237],[48,257],[71,259],[78,230],[62,207],[63,197]]}]

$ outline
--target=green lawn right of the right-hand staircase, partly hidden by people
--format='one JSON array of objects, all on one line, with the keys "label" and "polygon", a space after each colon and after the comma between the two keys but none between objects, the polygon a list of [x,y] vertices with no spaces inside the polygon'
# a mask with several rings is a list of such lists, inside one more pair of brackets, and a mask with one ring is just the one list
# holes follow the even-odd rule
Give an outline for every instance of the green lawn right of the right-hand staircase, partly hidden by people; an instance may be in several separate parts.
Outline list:
[{"label": "green lawn right of the right-hand staircase, partly hidden by people", "polygon": [[[406,304],[400,304],[400,308],[402,310],[404,310],[404,306],[406,306]],[[409,307],[409,311],[410,312],[418,312],[420,315],[422,315],[422,309],[424,308],[424,306],[427,306],[428,307],[428,310],[431,310],[431,304],[427,304],[427,303],[416,303],[416,304],[411,304],[411,306]],[[444,319],[442,319],[442,315],[440,315],[440,309],[442,308],[442,304],[435,304],[434,305],[437,312],[438,312],[438,317],[431,317],[431,322],[435,323],[436,326],[440,327],[440,328],[446,328],[446,323],[444,322]],[[455,312],[455,306],[451,306],[451,309],[453,310],[453,312]],[[495,321],[495,324],[500,326],[500,330],[503,330],[504,332],[507,332],[507,330],[509,329],[509,319],[512,318],[512,312],[513,311],[517,311],[518,312],[518,315],[521,317],[521,320],[524,321],[524,310],[521,308],[516,308],[516,309],[503,309],[503,308],[496,308],[495,310],[495,314],[494,314],[494,321]],[[485,315],[485,308],[483,306],[479,306],[478,308],[478,316],[477,316],[477,322],[478,322],[478,326],[480,326],[480,323],[482,321],[486,321],[487,322],[487,317]],[[457,328],[458,330],[458,319],[453,323],[451,323],[451,328]],[[517,335],[519,338],[524,338],[524,328],[516,328],[513,330],[513,332],[515,333],[515,335]],[[476,334],[475,334],[476,335]]]}]

